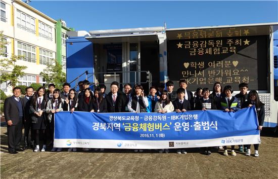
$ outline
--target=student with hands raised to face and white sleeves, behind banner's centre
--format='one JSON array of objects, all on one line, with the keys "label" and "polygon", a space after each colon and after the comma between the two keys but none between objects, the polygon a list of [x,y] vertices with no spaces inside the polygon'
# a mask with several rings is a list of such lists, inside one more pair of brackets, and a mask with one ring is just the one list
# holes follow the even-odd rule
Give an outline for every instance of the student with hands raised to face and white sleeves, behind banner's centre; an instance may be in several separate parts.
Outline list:
[{"label": "student with hands raised to face and white sleeves, behind banner's centre", "polygon": [[[147,107],[149,106],[149,101],[144,94],[143,86],[136,85],[134,88],[135,95],[133,95],[128,101],[128,111],[131,113],[146,113]],[[137,149],[134,152],[138,152]],[[143,152],[142,149],[139,152]]]}]

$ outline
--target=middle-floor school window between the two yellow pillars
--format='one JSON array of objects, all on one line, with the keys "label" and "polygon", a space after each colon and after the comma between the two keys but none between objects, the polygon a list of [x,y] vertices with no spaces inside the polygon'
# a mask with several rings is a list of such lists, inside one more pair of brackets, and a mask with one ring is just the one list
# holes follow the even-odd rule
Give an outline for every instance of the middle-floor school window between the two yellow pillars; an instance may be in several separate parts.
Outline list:
[{"label": "middle-floor school window between the two yellow pillars", "polygon": [[36,63],[36,48],[17,42],[17,55],[23,56],[21,60]]}]

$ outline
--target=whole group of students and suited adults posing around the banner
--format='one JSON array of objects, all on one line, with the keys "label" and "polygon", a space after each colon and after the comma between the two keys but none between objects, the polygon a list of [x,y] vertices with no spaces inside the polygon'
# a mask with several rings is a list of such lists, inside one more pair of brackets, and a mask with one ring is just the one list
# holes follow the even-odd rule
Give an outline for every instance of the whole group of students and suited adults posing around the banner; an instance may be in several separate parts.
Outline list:
[{"label": "whole group of students and suited adults posing around the banner", "polygon": [[[94,91],[89,88],[89,81],[78,83],[79,90],[71,89],[69,83],[63,84],[63,90],[56,89],[55,84],[48,86],[48,92],[44,87],[39,87],[34,92],[32,87],[27,87],[25,96],[21,95],[21,88],[13,89],[13,96],[7,98],[4,103],[4,115],[8,125],[9,153],[16,154],[17,151],[28,149],[31,145],[34,152],[44,152],[51,148],[52,152],[60,152],[62,148],[53,147],[54,141],[54,114],[60,111],[83,111],[96,113],[170,113],[187,112],[192,110],[223,110],[225,112],[236,112],[242,108],[255,105],[258,116],[259,127],[262,130],[264,122],[264,104],[260,101],[255,90],[248,91],[248,84],[239,85],[240,93],[232,96],[233,88],[229,85],[222,89],[221,83],[216,82],[212,92],[209,88],[197,88],[195,94],[187,90],[187,81],[180,80],[179,88],[174,90],[174,83],[168,81],[166,90],[164,85],[158,88],[150,87],[149,95],[144,93],[143,86],[125,84],[123,92],[119,90],[119,83],[110,84],[111,91],[106,94],[106,86],[99,85]],[[244,120],[244,119],[243,119]],[[24,148],[19,148],[22,127],[24,125]],[[31,139],[29,142],[29,131]],[[47,139],[50,143],[47,145]],[[43,141],[40,149],[40,141]],[[239,146],[240,152],[246,152],[250,156],[251,145]],[[255,156],[258,157],[258,144],[254,145]],[[219,147],[221,148],[221,147]],[[211,148],[203,148],[206,155],[211,154]],[[98,150],[98,149],[96,149]],[[103,150],[103,149],[101,149]],[[76,148],[68,151],[76,152]],[[83,148],[83,151],[89,151]],[[134,150],[143,152],[143,150]],[[168,153],[168,149],[161,149],[159,153]],[[178,154],[186,154],[185,149],[178,149]],[[224,146],[223,155],[227,156],[227,147]],[[236,156],[235,146],[231,146],[231,155]]]}]

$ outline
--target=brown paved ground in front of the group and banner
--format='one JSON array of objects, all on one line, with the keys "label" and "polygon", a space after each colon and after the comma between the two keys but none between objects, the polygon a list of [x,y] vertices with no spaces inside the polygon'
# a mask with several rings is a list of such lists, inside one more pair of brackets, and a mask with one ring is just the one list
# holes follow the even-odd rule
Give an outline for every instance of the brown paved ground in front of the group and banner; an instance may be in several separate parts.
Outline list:
[{"label": "brown paved ground in front of the group and banner", "polygon": [[[1,127],[1,178],[278,178],[278,132],[264,129],[260,157],[211,156],[146,150],[104,152],[7,153],[7,128]],[[253,148],[251,148],[253,154]]]}]

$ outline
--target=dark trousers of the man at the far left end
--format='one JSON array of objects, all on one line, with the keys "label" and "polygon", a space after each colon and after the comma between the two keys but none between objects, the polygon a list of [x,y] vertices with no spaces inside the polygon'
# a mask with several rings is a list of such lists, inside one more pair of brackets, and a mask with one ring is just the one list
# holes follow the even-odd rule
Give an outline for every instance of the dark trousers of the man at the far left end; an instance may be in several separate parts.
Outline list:
[{"label": "dark trousers of the man at the far left end", "polygon": [[22,118],[16,125],[8,126],[8,147],[9,151],[16,151],[16,147],[19,145],[22,137]]}]

